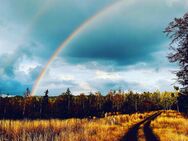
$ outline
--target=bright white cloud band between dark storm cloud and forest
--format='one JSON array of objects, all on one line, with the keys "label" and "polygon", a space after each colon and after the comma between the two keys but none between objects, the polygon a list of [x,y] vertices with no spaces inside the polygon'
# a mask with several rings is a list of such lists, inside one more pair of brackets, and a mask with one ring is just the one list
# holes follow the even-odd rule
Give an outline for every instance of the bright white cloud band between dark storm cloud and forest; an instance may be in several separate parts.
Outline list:
[{"label": "bright white cloud band between dark storm cloud and forest", "polygon": [[73,94],[78,95],[82,92],[88,94],[90,91],[101,91],[106,94],[110,89],[119,87],[137,92],[173,90],[171,84],[175,75],[171,71],[174,67],[157,68],[143,62],[111,72],[62,62],[63,60],[58,58],[51,65],[39,91],[43,92],[48,88],[51,94],[60,94],[70,88]]}]

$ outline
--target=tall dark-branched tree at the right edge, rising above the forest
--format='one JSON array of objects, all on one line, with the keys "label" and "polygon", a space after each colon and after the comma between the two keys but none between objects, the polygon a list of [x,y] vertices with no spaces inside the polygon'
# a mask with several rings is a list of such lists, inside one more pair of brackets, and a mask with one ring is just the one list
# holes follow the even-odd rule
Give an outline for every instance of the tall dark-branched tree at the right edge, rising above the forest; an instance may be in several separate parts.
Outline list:
[{"label": "tall dark-branched tree at the right edge, rising above the forest", "polygon": [[188,95],[188,13],[182,18],[175,18],[164,32],[172,40],[168,59],[179,64],[177,81],[183,86],[182,93]]}]

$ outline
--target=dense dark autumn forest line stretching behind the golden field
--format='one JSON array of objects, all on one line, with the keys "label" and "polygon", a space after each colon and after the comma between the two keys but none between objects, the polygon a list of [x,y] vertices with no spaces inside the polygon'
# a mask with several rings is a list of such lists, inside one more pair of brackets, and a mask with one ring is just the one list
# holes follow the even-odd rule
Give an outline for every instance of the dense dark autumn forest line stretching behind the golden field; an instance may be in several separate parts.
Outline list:
[{"label": "dense dark autumn forest line stretching behind the golden field", "polygon": [[38,118],[91,118],[104,117],[105,114],[130,114],[160,109],[179,109],[177,92],[110,91],[105,96],[100,92],[73,95],[70,89],[59,96],[0,97],[1,119],[38,119]]}]

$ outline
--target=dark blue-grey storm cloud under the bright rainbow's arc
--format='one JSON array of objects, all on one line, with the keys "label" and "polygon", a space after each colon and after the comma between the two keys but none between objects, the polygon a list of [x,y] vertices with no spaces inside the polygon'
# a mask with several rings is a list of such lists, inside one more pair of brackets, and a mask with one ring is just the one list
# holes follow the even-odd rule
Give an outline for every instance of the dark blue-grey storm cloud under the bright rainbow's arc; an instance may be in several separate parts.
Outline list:
[{"label": "dark blue-grey storm cloud under the bright rainbow's arc", "polygon": [[144,5],[138,1],[122,7],[96,19],[64,49],[62,56],[67,56],[71,63],[92,60],[114,61],[119,65],[150,63],[154,60],[152,53],[165,50],[164,28],[172,17],[185,12],[182,6],[169,7],[148,0]]}]

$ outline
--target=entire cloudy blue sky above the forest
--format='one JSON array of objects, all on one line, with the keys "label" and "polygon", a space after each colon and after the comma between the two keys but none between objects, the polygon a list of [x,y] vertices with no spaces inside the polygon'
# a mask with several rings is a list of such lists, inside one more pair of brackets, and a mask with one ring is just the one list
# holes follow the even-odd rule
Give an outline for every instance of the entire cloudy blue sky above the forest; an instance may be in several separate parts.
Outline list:
[{"label": "entire cloudy blue sky above the forest", "polygon": [[[22,95],[53,53],[35,95],[172,91],[177,64],[163,33],[187,0],[0,0],[0,93]],[[89,19],[89,22],[87,22]],[[87,23],[87,24],[84,24]]]}]

